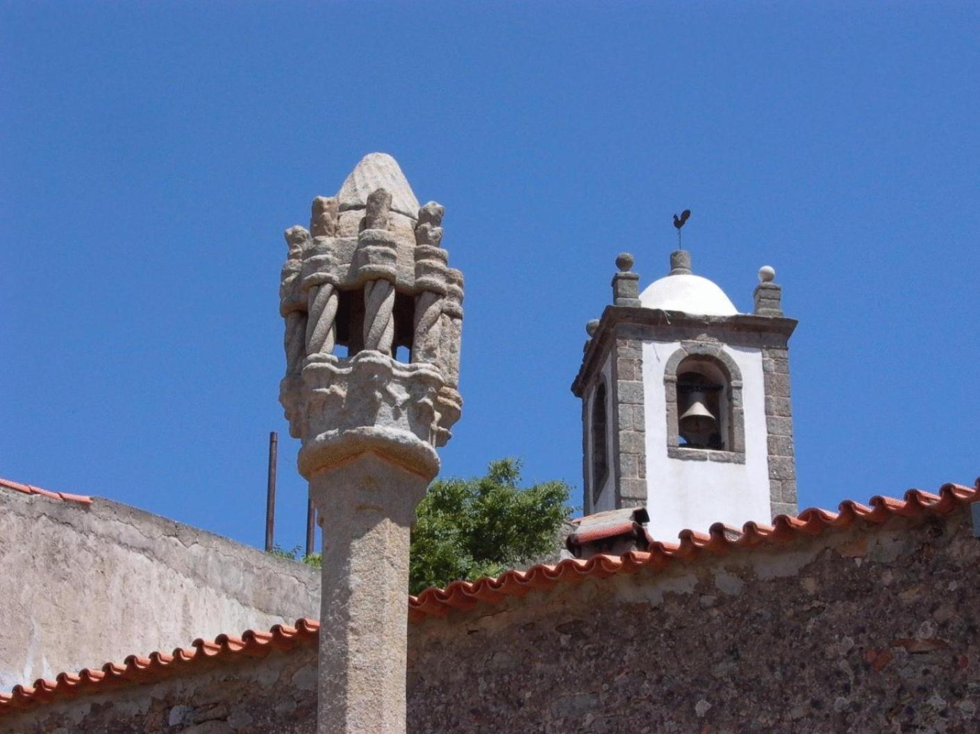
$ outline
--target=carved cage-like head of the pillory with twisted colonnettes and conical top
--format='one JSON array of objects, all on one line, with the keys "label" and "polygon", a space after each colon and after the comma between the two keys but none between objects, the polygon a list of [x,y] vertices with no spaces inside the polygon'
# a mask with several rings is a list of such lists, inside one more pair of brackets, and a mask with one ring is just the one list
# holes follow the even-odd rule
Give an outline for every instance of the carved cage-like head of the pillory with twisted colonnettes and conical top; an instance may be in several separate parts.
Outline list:
[{"label": "carved cage-like head of the pillory with twisted colonnettes and conical top", "polygon": [[[355,170],[356,191],[348,181],[336,197],[315,199],[309,230],[286,233],[279,399],[290,434],[303,439],[307,475],[372,443],[389,452],[411,443],[417,455],[409,463],[428,471],[460,418],[463,279],[442,248],[444,210],[419,207],[397,164],[384,158],[368,157]],[[333,353],[341,339],[343,356]],[[396,344],[411,344],[409,364],[394,359]],[[402,433],[388,440],[375,431],[382,423]]]}]

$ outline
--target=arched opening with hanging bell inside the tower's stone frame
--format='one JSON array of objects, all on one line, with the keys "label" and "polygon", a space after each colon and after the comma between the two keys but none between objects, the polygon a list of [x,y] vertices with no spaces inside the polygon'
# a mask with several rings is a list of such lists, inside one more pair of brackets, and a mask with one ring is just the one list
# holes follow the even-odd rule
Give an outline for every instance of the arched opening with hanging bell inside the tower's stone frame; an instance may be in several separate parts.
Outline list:
[{"label": "arched opening with hanging bell inside the tower's stone frame", "polygon": [[677,436],[681,447],[732,450],[731,379],[711,357],[677,367]]}]

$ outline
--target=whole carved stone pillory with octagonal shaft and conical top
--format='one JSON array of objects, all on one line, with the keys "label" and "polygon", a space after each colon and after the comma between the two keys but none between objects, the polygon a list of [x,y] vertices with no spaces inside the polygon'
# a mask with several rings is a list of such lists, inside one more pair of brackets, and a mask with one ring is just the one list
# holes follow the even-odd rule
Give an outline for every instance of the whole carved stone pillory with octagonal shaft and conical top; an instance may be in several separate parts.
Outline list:
[{"label": "whole carved stone pillory with octagonal shaft and conical top", "polygon": [[409,533],[463,404],[463,274],[440,247],[442,215],[375,153],[314,200],[309,230],[285,233],[280,400],[330,528],[319,734],[405,731]]}]

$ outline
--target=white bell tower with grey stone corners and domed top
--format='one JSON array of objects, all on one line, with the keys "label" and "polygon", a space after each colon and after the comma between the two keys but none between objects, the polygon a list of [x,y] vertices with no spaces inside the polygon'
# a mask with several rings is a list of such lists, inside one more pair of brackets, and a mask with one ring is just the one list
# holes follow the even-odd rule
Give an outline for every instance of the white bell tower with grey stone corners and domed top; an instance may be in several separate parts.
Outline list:
[{"label": "white bell tower with grey stone corners and domed top", "polygon": [[586,515],[645,506],[656,538],[797,512],[788,342],[775,271],[740,313],[691,253],[642,294],[628,252],[613,303],[586,325],[572,392],[582,400]]}]

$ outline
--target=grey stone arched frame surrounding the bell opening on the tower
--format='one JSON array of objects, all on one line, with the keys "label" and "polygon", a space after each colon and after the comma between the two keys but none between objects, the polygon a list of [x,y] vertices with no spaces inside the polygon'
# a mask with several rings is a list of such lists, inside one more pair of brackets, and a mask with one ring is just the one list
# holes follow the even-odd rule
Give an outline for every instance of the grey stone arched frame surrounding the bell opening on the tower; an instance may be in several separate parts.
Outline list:
[{"label": "grey stone arched frame surrounding the bell opening on the tower", "polygon": [[[724,377],[727,409],[727,441],[723,449],[692,448],[680,445],[678,431],[677,378],[685,360],[699,357],[710,362]],[[667,455],[678,459],[697,459],[745,463],[745,410],[742,402],[742,371],[720,343],[682,342],[667,359],[663,370],[666,398]]]}]

